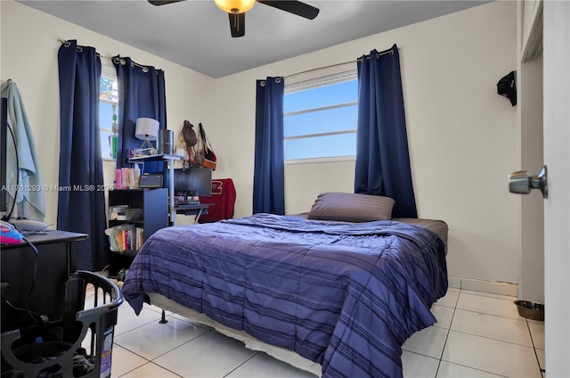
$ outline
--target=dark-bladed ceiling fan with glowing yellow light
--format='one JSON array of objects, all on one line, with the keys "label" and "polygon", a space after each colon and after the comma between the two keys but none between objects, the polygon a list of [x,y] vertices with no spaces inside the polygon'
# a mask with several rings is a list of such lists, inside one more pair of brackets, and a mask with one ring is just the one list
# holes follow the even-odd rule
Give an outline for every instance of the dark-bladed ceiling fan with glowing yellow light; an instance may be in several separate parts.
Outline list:
[{"label": "dark-bladed ceiling fan with glowing yellow light", "polygon": [[[149,0],[152,5],[165,5],[178,3],[184,0]],[[271,0],[215,0],[216,5],[230,16],[230,31],[232,37],[243,37],[246,34],[246,12],[250,10],[254,4],[261,3],[273,8],[281,9],[281,11],[297,14],[297,16],[305,17],[305,19],[313,20],[319,9],[312,5],[305,4],[300,1],[271,1]]]}]

